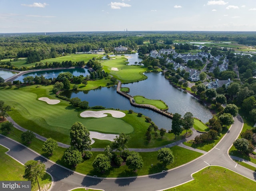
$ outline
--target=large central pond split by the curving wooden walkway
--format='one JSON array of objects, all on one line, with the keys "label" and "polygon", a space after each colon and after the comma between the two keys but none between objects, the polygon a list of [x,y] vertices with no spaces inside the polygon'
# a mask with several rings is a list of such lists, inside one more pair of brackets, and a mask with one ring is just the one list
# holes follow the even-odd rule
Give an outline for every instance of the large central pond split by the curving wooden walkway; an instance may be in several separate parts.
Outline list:
[{"label": "large central pond split by the curving wooden walkway", "polygon": [[[142,95],[149,99],[163,100],[169,106],[169,112],[177,112],[182,116],[186,112],[191,112],[194,117],[203,122],[212,118],[210,111],[200,104],[194,96],[172,87],[161,73],[146,73],[146,75],[148,76],[147,80],[123,84],[122,87],[129,87],[129,94],[132,96]],[[171,129],[171,119],[152,110],[132,106],[127,98],[116,93],[116,87],[102,87],[90,91],[66,91],[62,95],[68,98],[78,97],[81,100],[86,100],[89,102],[89,106],[104,106],[121,110],[131,109],[150,117],[158,128]]]}]

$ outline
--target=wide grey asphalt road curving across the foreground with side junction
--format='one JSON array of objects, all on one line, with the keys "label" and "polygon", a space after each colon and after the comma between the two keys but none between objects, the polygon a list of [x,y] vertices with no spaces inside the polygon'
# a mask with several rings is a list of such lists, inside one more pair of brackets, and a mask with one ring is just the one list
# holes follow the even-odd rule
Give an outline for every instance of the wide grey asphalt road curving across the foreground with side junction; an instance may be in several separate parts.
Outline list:
[{"label": "wide grey asphalt road curving across the foreground with side junction", "polygon": [[240,116],[237,116],[234,118],[234,124],[230,128],[230,132],[227,133],[212,150],[190,163],[176,167],[164,173],[120,179],[100,179],[70,171],[64,167],[56,165],[52,161],[43,158],[32,150],[4,136],[0,136],[0,144],[9,148],[10,151],[8,154],[21,163],[26,163],[26,161],[31,159],[40,159],[44,162],[46,165],[46,171],[53,177],[54,183],[52,190],[54,191],[68,191],[75,187],[98,188],[106,191],[156,191],[190,181],[192,180],[192,173],[199,171],[204,167],[210,167],[210,165],[227,167],[228,169],[255,181],[256,174],[253,171],[237,165],[228,155],[228,150],[232,146],[234,140],[238,138],[242,127],[242,119]]}]

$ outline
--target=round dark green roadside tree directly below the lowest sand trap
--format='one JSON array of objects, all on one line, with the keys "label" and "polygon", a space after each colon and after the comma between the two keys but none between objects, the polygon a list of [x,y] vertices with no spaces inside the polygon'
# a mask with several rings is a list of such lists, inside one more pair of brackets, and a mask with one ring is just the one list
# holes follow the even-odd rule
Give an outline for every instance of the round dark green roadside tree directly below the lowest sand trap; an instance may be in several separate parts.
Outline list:
[{"label": "round dark green roadside tree directly below the lowest sand trap", "polygon": [[108,171],[110,169],[110,159],[104,154],[98,154],[92,162],[92,167],[97,172]]}]

